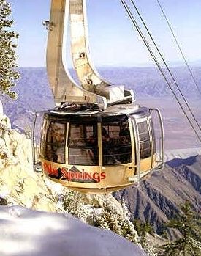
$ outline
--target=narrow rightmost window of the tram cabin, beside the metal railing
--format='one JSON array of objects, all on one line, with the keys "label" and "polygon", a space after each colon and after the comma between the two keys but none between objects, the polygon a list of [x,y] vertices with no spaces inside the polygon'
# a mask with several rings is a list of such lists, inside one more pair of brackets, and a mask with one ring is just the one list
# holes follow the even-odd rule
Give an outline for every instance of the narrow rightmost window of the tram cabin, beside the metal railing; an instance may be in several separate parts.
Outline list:
[{"label": "narrow rightmost window of the tram cabin, beside the metal railing", "polygon": [[151,156],[151,143],[150,143],[150,135],[148,132],[148,123],[139,122],[138,131],[140,137],[140,158],[148,158]]}]

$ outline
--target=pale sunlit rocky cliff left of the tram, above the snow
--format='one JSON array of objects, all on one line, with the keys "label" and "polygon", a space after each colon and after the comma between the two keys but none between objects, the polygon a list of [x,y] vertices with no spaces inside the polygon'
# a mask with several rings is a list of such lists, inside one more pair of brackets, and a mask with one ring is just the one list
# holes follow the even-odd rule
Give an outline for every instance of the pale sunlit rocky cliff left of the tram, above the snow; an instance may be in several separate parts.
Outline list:
[{"label": "pale sunlit rocky cliff left of the tram, above the snow", "polygon": [[43,175],[32,170],[31,140],[10,128],[0,113],[0,202],[41,211],[60,211]]}]

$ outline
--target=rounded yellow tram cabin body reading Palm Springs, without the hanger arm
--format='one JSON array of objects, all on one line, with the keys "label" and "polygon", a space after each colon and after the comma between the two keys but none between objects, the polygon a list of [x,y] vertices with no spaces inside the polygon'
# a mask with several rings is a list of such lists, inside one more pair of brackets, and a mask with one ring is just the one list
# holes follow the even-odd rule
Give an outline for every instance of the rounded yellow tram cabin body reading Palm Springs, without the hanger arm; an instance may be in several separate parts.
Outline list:
[{"label": "rounded yellow tram cabin body reading Palm Springs, without the hanger arm", "polygon": [[140,183],[159,164],[152,111],[159,114],[131,104],[106,111],[45,111],[40,146],[45,175],[83,192]]}]

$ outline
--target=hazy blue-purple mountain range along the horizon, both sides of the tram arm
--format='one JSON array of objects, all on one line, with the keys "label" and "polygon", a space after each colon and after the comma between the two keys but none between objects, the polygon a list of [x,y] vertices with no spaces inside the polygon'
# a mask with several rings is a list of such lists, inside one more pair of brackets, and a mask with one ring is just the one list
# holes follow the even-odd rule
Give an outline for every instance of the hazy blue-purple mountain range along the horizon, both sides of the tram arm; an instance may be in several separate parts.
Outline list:
[{"label": "hazy blue-purple mountain range along the horizon, both sides of the tram arm", "polygon": [[[172,73],[175,73],[183,93],[192,97],[196,96],[197,90],[194,88],[186,67],[171,67],[170,69]],[[167,88],[156,67],[100,67],[98,70],[106,81],[113,84],[124,84],[127,89],[134,89],[137,97],[167,97],[171,95],[170,89]],[[201,67],[193,67],[192,70],[201,89]],[[21,78],[15,87],[19,94],[18,106],[20,108],[26,106],[29,111],[39,111],[53,106],[53,95],[50,91],[45,67],[21,67],[19,71]],[[70,71],[75,77],[75,72]],[[28,103],[31,103],[29,108],[27,107]]]}]

